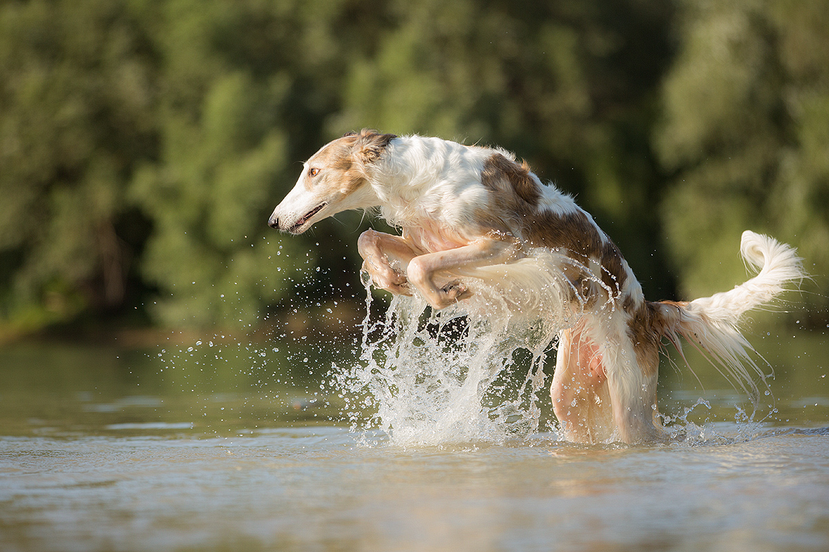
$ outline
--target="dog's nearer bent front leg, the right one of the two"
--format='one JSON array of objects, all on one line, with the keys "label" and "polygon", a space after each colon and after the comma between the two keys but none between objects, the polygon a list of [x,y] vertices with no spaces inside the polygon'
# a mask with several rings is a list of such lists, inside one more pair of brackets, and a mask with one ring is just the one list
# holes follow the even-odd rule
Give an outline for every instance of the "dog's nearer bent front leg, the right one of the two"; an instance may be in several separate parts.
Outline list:
[{"label": "dog's nearer bent front leg, the right one of the two", "polygon": [[515,238],[487,235],[462,247],[414,257],[406,274],[410,284],[423,293],[429,305],[434,309],[443,309],[466,299],[472,292],[459,281],[452,281],[444,287],[436,286],[434,276],[437,272],[502,264],[516,260],[519,255],[520,247]]}]

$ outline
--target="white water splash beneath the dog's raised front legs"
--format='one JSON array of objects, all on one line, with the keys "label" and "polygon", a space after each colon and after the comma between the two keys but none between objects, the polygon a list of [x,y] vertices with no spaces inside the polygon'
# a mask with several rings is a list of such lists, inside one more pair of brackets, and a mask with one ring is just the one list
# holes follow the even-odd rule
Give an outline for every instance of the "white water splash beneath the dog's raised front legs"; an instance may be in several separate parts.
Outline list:
[{"label": "white water splash beneath the dog's raised front legs", "polygon": [[[401,445],[499,440],[536,430],[543,351],[534,355],[523,385],[528,405],[516,390],[511,400],[485,406],[487,391],[515,363],[508,324],[458,308],[427,314],[422,301],[399,296],[385,319],[366,320],[361,365],[339,372],[339,384],[376,410],[369,425]],[[350,416],[358,426],[362,413]]]}]

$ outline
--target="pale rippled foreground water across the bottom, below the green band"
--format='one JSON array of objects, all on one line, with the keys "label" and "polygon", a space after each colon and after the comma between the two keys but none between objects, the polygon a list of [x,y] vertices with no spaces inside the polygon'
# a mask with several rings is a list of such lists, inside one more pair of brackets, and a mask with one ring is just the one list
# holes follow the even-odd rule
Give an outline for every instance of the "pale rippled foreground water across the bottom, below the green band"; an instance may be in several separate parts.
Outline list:
[{"label": "pale rippled foreground water across the bottom, below the green band", "polygon": [[[720,428],[723,433],[730,428]],[[2,441],[2,550],[827,550],[829,432],[401,449],[336,427]]]}]

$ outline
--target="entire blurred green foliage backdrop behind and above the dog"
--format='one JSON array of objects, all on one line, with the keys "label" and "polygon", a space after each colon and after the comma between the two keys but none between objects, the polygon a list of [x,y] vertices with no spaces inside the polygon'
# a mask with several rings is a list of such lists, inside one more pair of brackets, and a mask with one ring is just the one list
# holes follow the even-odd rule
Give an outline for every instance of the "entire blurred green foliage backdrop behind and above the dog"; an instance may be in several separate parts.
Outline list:
[{"label": "entire blurred green foliage backdrop behind and above the dog", "polygon": [[297,161],[361,127],[516,151],[654,298],[674,295],[667,252],[686,296],[741,280],[744,228],[826,274],[827,7],[672,6],[4,2],[0,325],[137,307],[249,327],[314,265],[307,295],[356,287],[359,214],[302,238],[265,222]]}]

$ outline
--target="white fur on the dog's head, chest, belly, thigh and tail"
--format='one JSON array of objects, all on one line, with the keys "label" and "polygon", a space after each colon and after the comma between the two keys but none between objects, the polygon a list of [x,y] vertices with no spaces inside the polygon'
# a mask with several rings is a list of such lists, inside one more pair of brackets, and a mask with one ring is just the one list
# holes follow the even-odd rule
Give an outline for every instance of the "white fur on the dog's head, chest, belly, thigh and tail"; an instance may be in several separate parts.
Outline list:
[{"label": "white fur on the dog's head, chest, belly, thigh and tail", "polygon": [[[324,157],[327,147],[305,164],[297,185],[274,209],[271,226],[299,233],[341,210],[379,208],[385,220],[402,228],[404,237],[426,253],[449,251],[480,238],[477,217],[492,199],[492,191],[482,185],[485,163],[494,154],[515,161],[511,153],[500,149],[464,146],[439,138],[394,137],[370,161],[359,161],[355,157],[355,162],[365,165],[361,167],[361,174],[365,175],[366,182],[356,191],[349,192],[347,197],[340,198],[334,189],[337,182],[313,185],[307,174],[314,168],[314,163]],[[558,215],[584,213],[570,195],[553,185],[542,185],[534,174],[531,177],[541,192],[538,211]],[[321,201],[322,209],[314,211]],[[313,213],[313,216],[303,218],[303,213]],[[593,218],[585,215],[595,225]],[[516,236],[520,238],[521,221],[517,217],[516,225]],[[598,226],[595,228],[602,239],[608,240]],[[681,307],[677,304],[657,305],[667,320],[662,329],[664,337],[677,346],[680,336],[694,343],[712,362],[722,367],[727,376],[756,395],[752,372],[761,379],[764,372],[751,356],[754,349],[739,332],[740,316],[773,300],[788,283],[802,278],[803,271],[795,250],[773,238],[746,231],[741,252],[746,262],[759,268],[759,274],[754,278],[733,290],[696,299]],[[611,384],[615,428],[598,427],[599,422],[596,422],[597,427],[571,427],[570,434],[574,439],[590,441],[613,437],[629,442],[651,439],[654,428],[650,416],[656,411],[656,405],[650,403],[656,397],[656,376],[646,377],[638,366],[636,351],[639,343],[633,343],[628,332],[633,310],[628,312],[622,306],[633,305],[631,309],[638,309],[644,305],[642,288],[628,263],[622,260],[627,278],[618,296],[613,296],[613,290],[606,289],[603,283],[602,267],[590,260],[591,266],[580,268],[593,275],[594,289],[599,290],[599,295],[604,293],[605,300],[590,307],[579,301],[573,304],[569,299],[574,295],[573,284],[565,277],[565,269],[574,263],[578,264],[566,251],[536,248],[510,262],[456,266],[451,274],[443,277],[448,281],[461,276],[469,286],[476,288],[476,292],[491,292],[490,295],[498,298],[512,313],[544,317],[555,332],[582,328],[579,339],[598,344],[595,354],[602,359]],[[444,281],[439,286],[443,286]],[[657,339],[661,337],[656,336]],[[566,357],[566,352],[560,348],[557,373],[565,369],[562,363]],[[589,360],[579,359],[578,362]],[[596,400],[599,401],[598,396]]]}]

